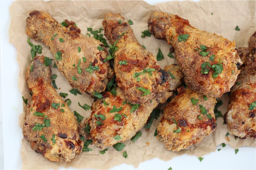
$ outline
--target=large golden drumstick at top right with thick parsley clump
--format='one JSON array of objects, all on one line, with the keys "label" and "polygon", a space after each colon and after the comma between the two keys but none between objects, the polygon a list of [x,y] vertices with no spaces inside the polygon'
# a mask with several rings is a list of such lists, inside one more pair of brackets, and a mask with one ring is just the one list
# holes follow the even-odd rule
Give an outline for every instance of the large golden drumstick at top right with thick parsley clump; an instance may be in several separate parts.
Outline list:
[{"label": "large golden drumstick at top right with thick parsley clump", "polygon": [[164,12],[150,14],[148,29],[155,38],[165,39],[174,47],[184,81],[192,90],[220,97],[236,82],[242,62],[234,41],[199,30],[188,20]]}]

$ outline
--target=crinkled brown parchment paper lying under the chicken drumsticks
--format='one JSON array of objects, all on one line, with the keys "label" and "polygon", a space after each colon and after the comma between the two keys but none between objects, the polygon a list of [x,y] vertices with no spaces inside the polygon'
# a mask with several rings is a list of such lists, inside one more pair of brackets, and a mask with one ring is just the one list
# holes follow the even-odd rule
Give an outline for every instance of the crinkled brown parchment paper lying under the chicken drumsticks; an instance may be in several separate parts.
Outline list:
[{"label": "crinkled brown parchment paper lying under the chicken drumsticks", "polygon": [[[93,30],[103,28],[101,22],[106,13],[120,13],[126,20],[131,19],[133,21],[134,24],[131,26],[135,36],[142,45],[146,46],[147,50],[152,51],[156,55],[158,48],[161,48],[164,54],[164,60],[159,61],[159,64],[162,68],[165,65],[176,62],[175,59],[167,56],[170,45],[167,45],[163,40],[155,39],[153,36],[146,38],[140,37],[141,32],[148,29],[147,20],[152,11],[160,10],[177,14],[182,18],[188,19],[191,25],[199,29],[215,32],[229,40],[236,41],[237,47],[248,46],[248,39],[255,32],[255,1],[172,1],[156,4],[155,6],[143,1],[16,1],[10,6],[12,18],[9,33],[10,43],[17,49],[17,61],[20,65],[19,88],[22,96],[28,98],[28,103],[31,100],[31,96],[29,95],[25,81],[25,72],[31,63],[31,47],[26,42],[28,36],[26,35],[25,27],[29,11],[34,9],[48,12],[59,22],[62,22],[64,19],[75,21],[81,29],[81,33],[85,35],[88,33],[87,27],[92,27]],[[211,15],[211,13],[213,14]],[[235,31],[236,25],[239,26],[240,31]],[[52,53],[49,52],[48,47],[43,43],[39,41],[34,42],[33,40],[31,42],[43,47],[41,55],[53,59]],[[72,88],[57,68],[52,67],[52,74],[58,75],[56,84],[59,89],[57,92],[68,93],[66,99],[69,98],[72,101],[69,106],[70,109],[72,111],[76,110],[84,116],[84,119],[89,117],[90,110],[84,111],[78,106],[78,102],[91,105],[92,98],[85,94],[74,96],[69,93],[69,90]],[[223,105],[219,110],[222,114],[225,114],[229,101],[228,95],[223,95],[220,99]],[[20,127],[23,125],[27,109],[25,104],[23,109],[23,113],[20,114]],[[89,147],[92,148],[92,152],[82,152],[68,163],[51,162],[41,154],[34,152],[30,148],[28,141],[23,138],[21,144],[22,168],[56,169],[60,166],[72,166],[75,168],[108,169],[122,163],[137,167],[140,162],[155,157],[169,160],[184,153],[199,157],[206,153],[214,152],[216,146],[221,143],[231,145],[233,148],[239,148],[241,146],[255,147],[255,140],[239,138],[235,140],[231,134],[228,136],[230,141],[227,141],[225,139],[225,134],[228,132],[227,125],[223,125],[223,118],[218,117],[216,130],[211,135],[205,137],[200,144],[191,146],[188,150],[180,152],[168,151],[163,143],[154,137],[156,125],[159,120],[160,118],[154,120],[150,131],[145,131],[142,128],[142,136],[135,143],[132,143],[131,140],[125,142],[126,146],[123,151],[127,151],[128,153],[128,158],[126,159],[122,156],[123,152],[117,152],[113,147],[108,147],[108,151],[101,155],[99,148],[90,145]]]}]

